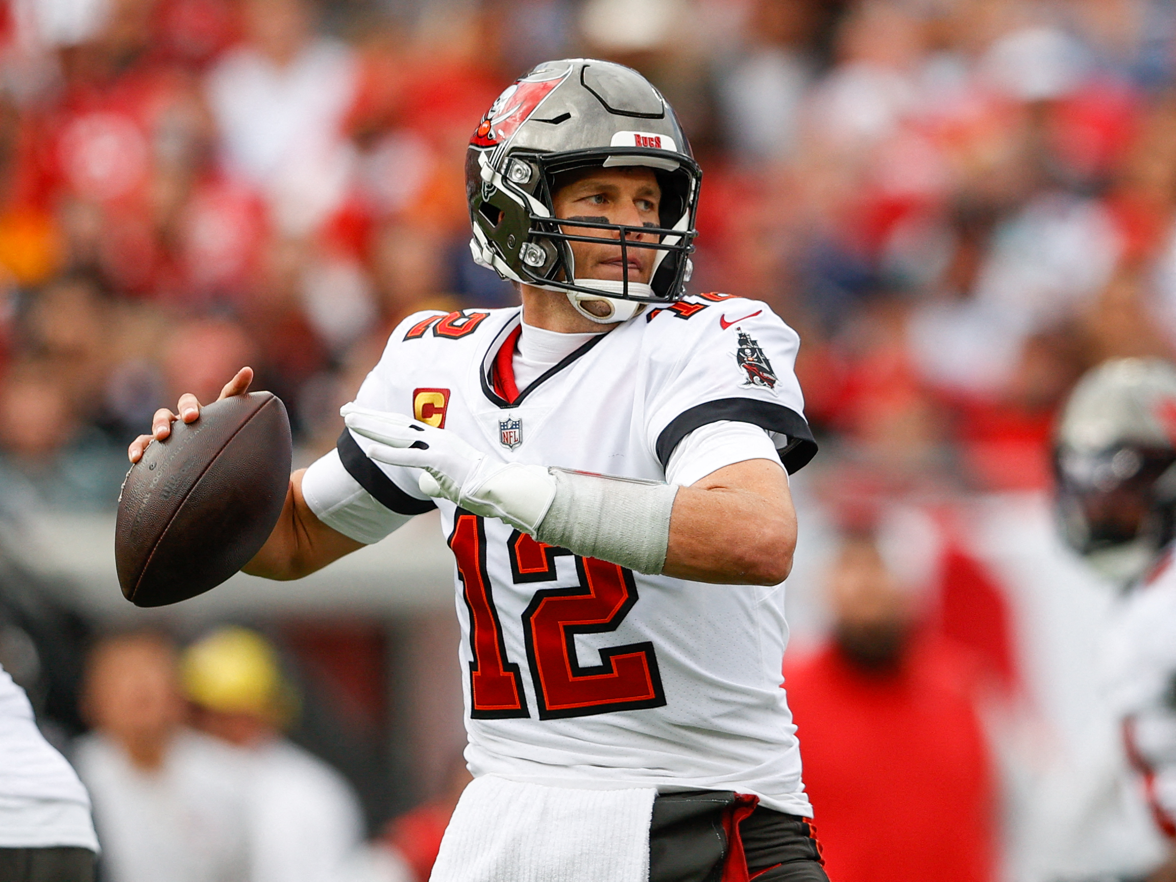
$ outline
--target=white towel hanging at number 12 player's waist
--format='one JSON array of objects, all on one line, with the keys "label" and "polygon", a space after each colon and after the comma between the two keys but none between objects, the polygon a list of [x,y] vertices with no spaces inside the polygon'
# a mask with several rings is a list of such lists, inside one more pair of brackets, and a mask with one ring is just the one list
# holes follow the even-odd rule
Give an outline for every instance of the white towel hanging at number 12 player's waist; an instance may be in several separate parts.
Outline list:
[{"label": "white towel hanging at number 12 player's waist", "polygon": [[656,795],[483,775],[461,795],[429,882],[648,882]]}]

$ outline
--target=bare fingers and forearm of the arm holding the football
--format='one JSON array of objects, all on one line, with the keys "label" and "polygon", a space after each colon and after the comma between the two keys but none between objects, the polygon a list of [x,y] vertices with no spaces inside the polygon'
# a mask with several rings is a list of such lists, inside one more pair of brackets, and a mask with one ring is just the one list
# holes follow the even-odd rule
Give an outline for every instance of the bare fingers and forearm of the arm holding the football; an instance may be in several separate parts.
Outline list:
[{"label": "bare fingers and forearm of the arm holding the football", "polygon": [[[252,382],[253,368],[243,367],[225,385],[216,400],[243,395],[249,390]],[[175,413],[166,407],[160,408],[152,417],[151,434],[140,435],[131,442],[127,450],[131,462],[139,462],[152,441],[167,439],[172,434],[172,423],[175,420],[192,423],[199,419],[200,401],[191,393],[180,396]],[[302,496],[305,470],[299,469],[290,475],[281,516],[265,546],[242,568],[245,573],[265,579],[301,579],[363,547],[361,542],[325,524],[310,510]]]}]

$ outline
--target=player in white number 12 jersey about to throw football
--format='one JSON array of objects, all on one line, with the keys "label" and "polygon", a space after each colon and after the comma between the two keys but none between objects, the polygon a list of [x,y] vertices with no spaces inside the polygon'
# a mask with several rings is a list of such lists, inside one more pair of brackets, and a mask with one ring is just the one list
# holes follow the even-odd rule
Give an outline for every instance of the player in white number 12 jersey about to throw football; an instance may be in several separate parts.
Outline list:
[{"label": "player in white number 12 jersey about to throw football", "polygon": [[684,295],[700,180],[629,68],[507,88],[466,187],[522,308],[406,319],[245,568],[298,577],[440,509],[475,780],[434,880],[826,880],[779,673],[787,473],[816,452],[799,340]]}]

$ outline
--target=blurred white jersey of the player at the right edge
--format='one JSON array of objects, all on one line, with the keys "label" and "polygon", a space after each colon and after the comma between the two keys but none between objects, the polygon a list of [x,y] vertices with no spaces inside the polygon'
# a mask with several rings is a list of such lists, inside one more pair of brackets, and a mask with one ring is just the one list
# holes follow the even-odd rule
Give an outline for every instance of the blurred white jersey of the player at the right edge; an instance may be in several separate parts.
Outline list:
[{"label": "blurred white jersey of the player at the right edge", "polygon": [[1176,566],[1169,549],[1108,634],[1107,687],[1158,830],[1176,840]]}]

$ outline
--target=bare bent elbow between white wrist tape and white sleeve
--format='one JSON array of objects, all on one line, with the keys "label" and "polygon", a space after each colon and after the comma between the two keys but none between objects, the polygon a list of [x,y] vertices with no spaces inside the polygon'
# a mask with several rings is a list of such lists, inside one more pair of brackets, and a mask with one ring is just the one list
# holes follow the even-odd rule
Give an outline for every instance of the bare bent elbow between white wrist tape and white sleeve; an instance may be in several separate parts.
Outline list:
[{"label": "bare bent elbow between white wrist tape and white sleeve", "polygon": [[[748,481],[770,493],[748,489]],[[662,572],[696,582],[776,584],[788,577],[795,548],[783,469],[750,460],[679,490]]]}]

